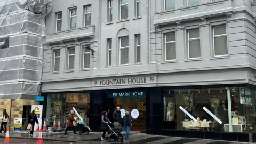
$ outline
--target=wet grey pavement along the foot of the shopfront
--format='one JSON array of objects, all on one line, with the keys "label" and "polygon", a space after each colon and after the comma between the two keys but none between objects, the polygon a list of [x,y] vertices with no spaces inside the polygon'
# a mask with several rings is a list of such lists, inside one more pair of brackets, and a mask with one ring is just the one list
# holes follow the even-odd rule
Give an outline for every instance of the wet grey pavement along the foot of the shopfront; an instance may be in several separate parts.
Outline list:
[{"label": "wet grey pavement along the foot of the shopfront", "polygon": [[[11,140],[15,139],[29,139],[29,140],[37,140],[38,132],[35,132],[34,137],[29,137],[28,134],[24,135],[23,133],[10,133]],[[68,132],[68,136],[64,136],[63,132],[43,132],[43,141],[59,141],[60,142],[69,142],[69,143],[102,143],[100,140],[102,133],[91,132],[90,135],[82,134],[82,135],[74,135],[73,132]],[[0,139],[4,138],[4,135],[0,135]],[[192,138],[179,138],[179,137],[164,137],[159,135],[147,135],[146,133],[139,133],[139,132],[131,132],[129,143],[133,144],[239,144],[238,142],[231,142],[231,141],[218,141],[218,140],[207,140],[207,139],[192,139]],[[20,142],[20,141],[19,141]],[[53,143],[53,142],[52,142]],[[113,140],[111,142],[103,142],[103,143],[116,143]],[[124,142],[128,143],[128,142]],[[242,143],[242,142],[241,142]]]}]

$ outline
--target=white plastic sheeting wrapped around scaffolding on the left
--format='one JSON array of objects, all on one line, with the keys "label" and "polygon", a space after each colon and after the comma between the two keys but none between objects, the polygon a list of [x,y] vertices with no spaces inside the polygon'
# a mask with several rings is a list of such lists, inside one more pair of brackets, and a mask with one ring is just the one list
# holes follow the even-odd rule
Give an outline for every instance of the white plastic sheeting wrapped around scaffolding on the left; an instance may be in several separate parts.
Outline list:
[{"label": "white plastic sheeting wrapped around scaffolding on the left", "polygon": [[39,94],[50,10],[51,0],[0,0],[0,99]]}]

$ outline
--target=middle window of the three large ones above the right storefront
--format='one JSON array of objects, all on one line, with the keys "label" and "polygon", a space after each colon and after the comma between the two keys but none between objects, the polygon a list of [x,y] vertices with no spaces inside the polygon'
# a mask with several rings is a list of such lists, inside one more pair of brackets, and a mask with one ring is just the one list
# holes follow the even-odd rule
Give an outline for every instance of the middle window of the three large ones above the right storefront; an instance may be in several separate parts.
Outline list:
[{"label": "middle window of the three large ones above the right storefront", "polygon": [[188,58],[200,58],[200,30],[194,29],[188,31]]}]

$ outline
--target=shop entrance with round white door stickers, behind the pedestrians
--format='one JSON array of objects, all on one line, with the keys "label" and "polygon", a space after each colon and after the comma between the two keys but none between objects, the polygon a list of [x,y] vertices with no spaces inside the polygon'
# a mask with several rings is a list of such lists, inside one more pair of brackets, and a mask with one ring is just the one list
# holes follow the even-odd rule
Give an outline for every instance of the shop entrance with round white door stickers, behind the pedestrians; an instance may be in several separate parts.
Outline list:
[{"label": "shop entrance with round white door stickers, behind the pedestrians", "polygon": [[121,107],[130,112],[133,109],[139,111],[139,117],[134,119],[131,117],[131,131],[146,131],[146,97],[121,97],[115,98],[115,106]]}]

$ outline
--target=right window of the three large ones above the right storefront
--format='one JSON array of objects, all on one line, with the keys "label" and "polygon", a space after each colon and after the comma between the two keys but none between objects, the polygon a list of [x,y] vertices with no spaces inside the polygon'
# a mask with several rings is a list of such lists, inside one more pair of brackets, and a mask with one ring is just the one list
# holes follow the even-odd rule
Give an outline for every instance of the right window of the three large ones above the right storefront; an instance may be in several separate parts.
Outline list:
[{"label": "right window of the three large ones above the right storefront", "polygon": [[226,31],[226,25],[213,27],[214,56],[228,54]]}]

